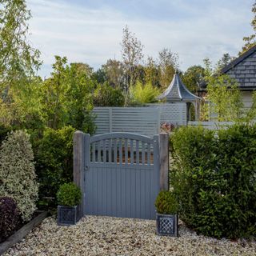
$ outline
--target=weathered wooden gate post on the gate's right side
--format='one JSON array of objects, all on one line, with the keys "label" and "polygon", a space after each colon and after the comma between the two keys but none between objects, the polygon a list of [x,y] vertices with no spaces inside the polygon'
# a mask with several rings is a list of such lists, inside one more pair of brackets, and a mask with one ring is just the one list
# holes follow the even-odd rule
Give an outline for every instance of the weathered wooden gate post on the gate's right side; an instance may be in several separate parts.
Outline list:
[{"label": "weathered wooden gate post on the gate's right side", "polygon": [[160,190],[169,190],[169,135],[159,134]]}]

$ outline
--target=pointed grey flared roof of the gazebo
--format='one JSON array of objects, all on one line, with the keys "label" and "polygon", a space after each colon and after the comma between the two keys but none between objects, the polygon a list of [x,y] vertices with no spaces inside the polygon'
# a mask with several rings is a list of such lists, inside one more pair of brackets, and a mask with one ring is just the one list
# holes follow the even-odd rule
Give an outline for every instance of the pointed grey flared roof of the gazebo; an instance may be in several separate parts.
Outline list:
[{"label": "pointed grey flared roof of the gazebo", "polygon": [[182,79],[176,73],[170,86],[160,95],[158,99],[166,98],[166,102],[194,102],[200,97],[192,94],[183,84]]}]

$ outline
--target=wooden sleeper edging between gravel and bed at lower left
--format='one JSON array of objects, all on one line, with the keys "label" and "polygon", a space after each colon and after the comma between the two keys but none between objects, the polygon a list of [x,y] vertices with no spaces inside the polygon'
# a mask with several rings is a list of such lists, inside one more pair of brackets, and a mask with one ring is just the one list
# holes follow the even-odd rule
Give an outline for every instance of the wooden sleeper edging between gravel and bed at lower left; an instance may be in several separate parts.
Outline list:
[{"label": "wooden sleeper edging between gravel and bed at lower left", "polygon": [[14,246],[15,243],[20,242],[23,238],[25,238],[26,234],[28,234],[35,226],[38,226],[43,219],[46,218],[46,216],[46,211],[37,211],[35,213],[35,217],[30,222],[27,222],[24,226],[7,238],[6,241],[0,243],[0,255],[8,250],[11,246]]}]

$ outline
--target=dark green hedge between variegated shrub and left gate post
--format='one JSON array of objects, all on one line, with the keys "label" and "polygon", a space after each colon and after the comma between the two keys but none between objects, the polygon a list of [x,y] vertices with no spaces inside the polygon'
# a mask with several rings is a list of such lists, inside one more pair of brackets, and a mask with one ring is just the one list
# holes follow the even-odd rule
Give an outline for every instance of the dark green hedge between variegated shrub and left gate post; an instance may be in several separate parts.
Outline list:
[{"label": "dark green hedge between variegated shrub and left gate post", "polygon": [[34,145],[34,157],[38,174],[39,198],[54,198],[59,186],[73,180],[74,128],[47,128]]}]

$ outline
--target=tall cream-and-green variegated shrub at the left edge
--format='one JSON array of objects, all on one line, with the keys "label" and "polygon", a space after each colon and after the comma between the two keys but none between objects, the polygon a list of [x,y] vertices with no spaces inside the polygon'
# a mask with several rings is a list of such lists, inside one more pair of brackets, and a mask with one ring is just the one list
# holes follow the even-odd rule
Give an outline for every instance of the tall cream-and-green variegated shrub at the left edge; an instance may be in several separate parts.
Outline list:
[{"label": "tall cream-and-green variegated shrub at the left edge", "polygon": [[22,220],[30,220],[38,199],[34,154],[26,132],[11,132],[0,150],[0,196],[14,198]]}]

